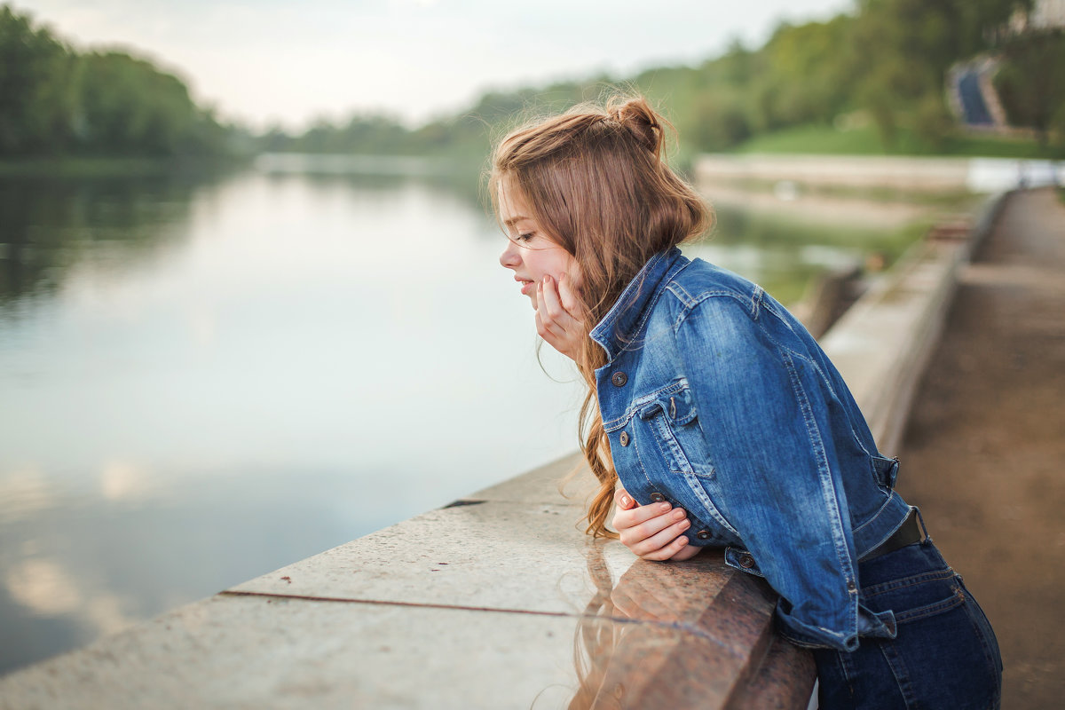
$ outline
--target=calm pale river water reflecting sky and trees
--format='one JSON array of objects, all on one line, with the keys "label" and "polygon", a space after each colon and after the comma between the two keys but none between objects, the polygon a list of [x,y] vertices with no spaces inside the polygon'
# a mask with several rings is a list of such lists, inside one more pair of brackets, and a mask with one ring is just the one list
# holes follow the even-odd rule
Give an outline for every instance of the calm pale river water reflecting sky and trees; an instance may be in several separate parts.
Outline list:
[{"label": "calm pale river water reflecting sky and trees", "polygon": [[[548,347],[537,363],[475,195],[0,181],[0,673],[576,448],[574,373]],[[719,218],[686,251],[785,300],[898,248]]]}]

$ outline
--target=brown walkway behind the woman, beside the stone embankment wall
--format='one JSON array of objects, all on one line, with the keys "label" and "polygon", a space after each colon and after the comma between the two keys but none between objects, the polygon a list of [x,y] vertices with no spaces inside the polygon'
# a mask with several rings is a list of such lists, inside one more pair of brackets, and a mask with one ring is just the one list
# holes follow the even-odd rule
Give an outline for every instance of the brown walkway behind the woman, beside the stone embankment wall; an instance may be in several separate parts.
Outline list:
[{"label": "brown walkway behind the woman, beside the stone embankment wall", "polygon": [[1065,204],[1007,198],[963,269],[899,490],[998,634],[1003,708],[1065,696]]}]

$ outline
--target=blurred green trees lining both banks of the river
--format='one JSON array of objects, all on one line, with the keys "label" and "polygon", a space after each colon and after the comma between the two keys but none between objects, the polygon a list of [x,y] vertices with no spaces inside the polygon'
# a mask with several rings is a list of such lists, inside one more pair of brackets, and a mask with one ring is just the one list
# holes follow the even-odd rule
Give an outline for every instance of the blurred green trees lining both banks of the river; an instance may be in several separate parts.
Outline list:
[{"label": "blurred green trees lining both banks of the river", "polygon": [[36,154],[179,155],[242,150],[428,154],[481,160],[489,135],[515,114],[593,100],[604,85],[639,92],[673,118],[682,150],[726,151],[804,125],[865,123],[885,151],[912,136],[943,149],[957,126],[945,76],[958,61],[994,52],[1012,122],[1043,143],[1065,135],[1061,29],[1005,30],[1032,0],[855,0],[824,22],[781,24],[764,46],[736,43],[698,66],[629,78],[489,92],[469,110],[408,128],[387,115],[280,128],[249,138],[197,106],[186,86],[151,63],[116,51],[77,52],[0,6],[0,158]]}]

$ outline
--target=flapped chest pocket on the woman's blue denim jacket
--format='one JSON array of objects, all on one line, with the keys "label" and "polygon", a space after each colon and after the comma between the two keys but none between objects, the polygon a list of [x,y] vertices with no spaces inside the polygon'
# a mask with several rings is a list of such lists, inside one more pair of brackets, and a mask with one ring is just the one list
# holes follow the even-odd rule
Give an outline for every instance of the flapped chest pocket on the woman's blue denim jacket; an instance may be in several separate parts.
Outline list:
[{"label": "flapped chest pocket on the woman's blue denim jacket", "polygon": [[656,397],[642,406],[637,415],[640,458],[652,452],[659,458],[658,466],[644,460],[644,467],[665,466],[681,474],[714,475],[695,404],[687,389]]}]

